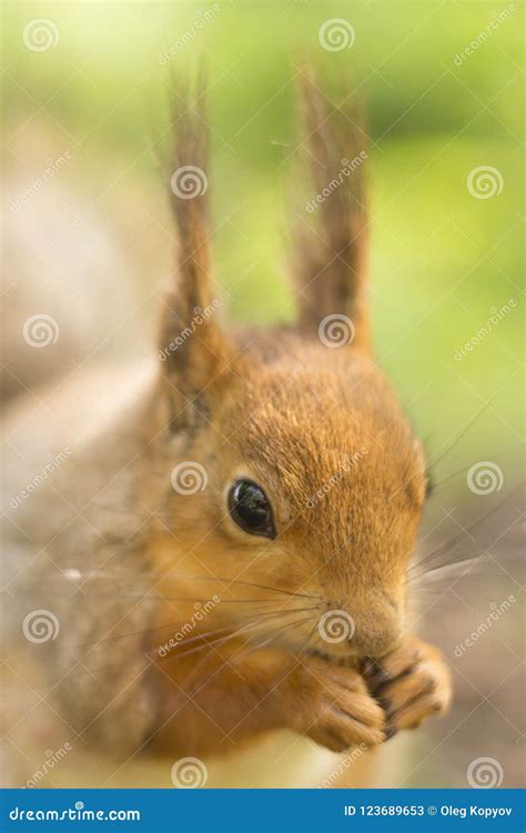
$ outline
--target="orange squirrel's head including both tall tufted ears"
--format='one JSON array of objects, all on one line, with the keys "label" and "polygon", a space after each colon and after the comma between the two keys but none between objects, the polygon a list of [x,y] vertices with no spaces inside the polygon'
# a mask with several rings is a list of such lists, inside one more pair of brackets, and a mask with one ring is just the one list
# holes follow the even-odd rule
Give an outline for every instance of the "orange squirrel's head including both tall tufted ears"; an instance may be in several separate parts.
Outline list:
[{"label": "orange squirrel's head including both tall tufted ears", "polygon": [[164,566],[215,576],[232,596],[277,589],[297,612],[299,625],[281,635],[287,644],[380,656],[404,630],[426,475],[422,445],[371,357],[365,133],[355,117],[332,127],[305,78],[314,183],[320,193],[337,185],[318,205],[317,231],[301,224],[296,235],[297,323],[237,332],[220,322],[211,277],[202,100],[180,96],[175,120],[175,173],[192,174],[194,193],[172,188],[179,269],[160,367],[179,541]]}]

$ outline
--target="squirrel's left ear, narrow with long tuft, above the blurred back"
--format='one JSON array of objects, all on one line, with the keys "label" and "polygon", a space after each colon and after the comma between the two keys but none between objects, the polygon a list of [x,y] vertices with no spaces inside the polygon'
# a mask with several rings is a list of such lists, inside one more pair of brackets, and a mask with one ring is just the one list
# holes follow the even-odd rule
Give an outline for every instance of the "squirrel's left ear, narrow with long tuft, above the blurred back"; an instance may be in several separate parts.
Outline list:
[{"label": "squirrel's left ear, narrow with long tuft, above the blurred back", "polygon": [[195,400],[224,382],[235,349],[218,321],[208,220],[208,130],[204,84],[195,94],[175,91],[175,149],[164,174],[178,229],[175,285],[163,302],[159,339],[161,372],[178,422],[195,413]]}]

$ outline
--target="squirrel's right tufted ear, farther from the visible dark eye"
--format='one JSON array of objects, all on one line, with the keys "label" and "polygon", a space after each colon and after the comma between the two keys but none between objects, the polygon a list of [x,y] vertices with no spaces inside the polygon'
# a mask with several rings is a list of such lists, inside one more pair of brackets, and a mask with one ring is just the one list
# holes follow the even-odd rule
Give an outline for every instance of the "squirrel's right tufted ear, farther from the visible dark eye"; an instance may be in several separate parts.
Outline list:
[{"label": "squirrel's right tufted ear, farther from the visible dark eye", "polygon": [[353,347],[368,352],[364,119],[348,96],[331,102],[312,71],[301,76],[299,92],[315,193],[305,207],[310,221],[304,214],[294,234],[300,327],[321,334],[341,319]]}]

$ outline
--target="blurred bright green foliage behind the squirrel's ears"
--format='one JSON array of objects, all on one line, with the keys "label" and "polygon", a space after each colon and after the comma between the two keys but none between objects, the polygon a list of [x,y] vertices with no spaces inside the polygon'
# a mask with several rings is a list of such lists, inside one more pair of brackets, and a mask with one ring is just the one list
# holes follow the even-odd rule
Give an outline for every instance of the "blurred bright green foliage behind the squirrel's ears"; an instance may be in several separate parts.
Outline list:
[{"label": "blurred bright green foliage behind the squirrel's ears", "polygon": [[[9,126],[45,107],[83,160],[104,159],[115,181],[124,177],[138,193],[158,189],[161,199],[150,145],[166,123],[171,73],[176,78],[204,59],[216,260],[231,314],[256,322],[290,319],[286,203],[287,194],[305,187],[292,164],[295,67],[312,60],[328,79],[347,79],[346,91],[356,90],[366,102],[372,139],[377,355],[429,436],[432,456],[493,398],[442,473],[487,459],[510,470],[513,480],[522,431],[524,9],[435,0],[221,0],[213,19],[161,66],[170,44],[212,6],[8,3],[8,147]],[[512,7],[473,54],[455,62],[496,13]],[[54,48],[24,48],[22,30],[33,18],[55,23]],[[352,23],[351,49],[321,49],[320,26],[328,18]],[[499,195],[469,194],[466,178],[478,165],[498,169]],[[490,309],[509,299],[517,308],[456,361]]]}]

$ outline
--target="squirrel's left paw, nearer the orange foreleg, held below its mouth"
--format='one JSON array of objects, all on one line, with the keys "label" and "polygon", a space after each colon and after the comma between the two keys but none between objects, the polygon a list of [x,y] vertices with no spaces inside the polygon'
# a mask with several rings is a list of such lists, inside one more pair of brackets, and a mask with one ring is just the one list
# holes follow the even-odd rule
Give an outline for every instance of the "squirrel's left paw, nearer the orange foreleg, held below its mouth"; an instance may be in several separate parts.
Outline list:
[{"label": "squirrel's left paw, nearer the orange foreleg, held below its mouth", "polygon": [[385,740],[385,715],[362,676],[310,656],[296,670],[293,726],[333,752]]}]

